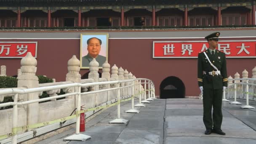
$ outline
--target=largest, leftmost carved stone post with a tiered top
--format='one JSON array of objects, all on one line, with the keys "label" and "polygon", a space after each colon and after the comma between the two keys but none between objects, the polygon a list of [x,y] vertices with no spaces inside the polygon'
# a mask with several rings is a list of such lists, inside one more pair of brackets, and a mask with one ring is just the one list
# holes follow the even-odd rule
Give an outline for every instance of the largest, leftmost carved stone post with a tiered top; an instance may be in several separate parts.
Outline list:
[{"label": "largest, leftmost carved stone post with a tiered top", "polygon": [[[18,88],[38,88],[38,77],[35,75],[37,72],[37,60],[30,52],[27,56],[21,59],[21,75],[18,79]],[[19,95],[18,101],[30,101],[39,99],[39,93],[28,93]],[[24,106],[26,107],[26,106]],[[27,125],[38,123],[39,120],[39,103],[32,103],[27,105]]]}]

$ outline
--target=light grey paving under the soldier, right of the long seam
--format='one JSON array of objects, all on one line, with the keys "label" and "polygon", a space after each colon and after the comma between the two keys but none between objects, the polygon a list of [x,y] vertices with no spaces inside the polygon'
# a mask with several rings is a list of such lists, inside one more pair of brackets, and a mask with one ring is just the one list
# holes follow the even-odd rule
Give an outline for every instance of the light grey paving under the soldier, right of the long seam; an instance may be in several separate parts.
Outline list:
[{"label": "light grey paving under the soldier, right of the long seam", "polygon": [[[165,110],[165,144],[256,144],[256,131],[237,117],[256,118],[256,112],[223,102],[221,129],[226,133],[205,135],[203,101],[198,99],[167,99]],[[234,115],[234,113],[236,115]],[[232,115],[233,114],[233,115]],[[256,121],[254,122],[256,125]]]}]

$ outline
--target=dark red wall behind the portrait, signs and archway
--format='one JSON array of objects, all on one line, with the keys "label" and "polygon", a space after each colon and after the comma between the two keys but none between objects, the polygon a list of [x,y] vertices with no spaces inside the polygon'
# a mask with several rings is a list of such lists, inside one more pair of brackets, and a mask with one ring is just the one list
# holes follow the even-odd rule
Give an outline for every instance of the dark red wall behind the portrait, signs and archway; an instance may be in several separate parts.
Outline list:
[{"label": "dark red wall behind the portrait, signs and archway", "polygon": [[[165,39],[168,40],[168,39]],[[195,39],[194,39],[195,40]],[[199,39],[200,40],[200,39]],[[235,39],[233,39],[235,40]],[[1,40],[1,41],[37,41],[37,75],[65,81],[67,61],[76,55],[80,59],[80,40]],[[161,41],[157,39],[157,41]],[[109,64],[111,67],[123,67],[136,77],[152,79],[156,95],[159,95],[160,83],[169,76],[179,77],[186,87],[186,96],[198,96],[197,59],[152,59],[153,39],[109,39]],[[7,66],[7,75],[17,75],[21,59],[0,59],[0,65]],[[256,66],[256,59],[227,59],[228,75],[234,77],[247,69],[249,77]],[[101,70],[100,70],[101,71]],[[81,69],[83,76],[88,69]]]}]

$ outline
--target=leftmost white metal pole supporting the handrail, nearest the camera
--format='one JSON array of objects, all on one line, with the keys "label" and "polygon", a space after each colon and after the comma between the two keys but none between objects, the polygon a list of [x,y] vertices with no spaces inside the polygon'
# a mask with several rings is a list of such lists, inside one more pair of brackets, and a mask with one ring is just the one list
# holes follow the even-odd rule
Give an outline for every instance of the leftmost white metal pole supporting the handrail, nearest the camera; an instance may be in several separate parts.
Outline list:
[{"label": "leftmost white metal pole supporting the handrail, nearest the camera", "polygon": [[[16,93],[14,95],[14,99],[13,102],[16,103],[13,106],[13,128],[17,127],[17,120],[18,120],[18,105],[17,105],[17,101],[18,101],[18,93]],[[12,144],[17,144],[17,131],[12,131],[13,132],[13,137],[12,137]]]}]

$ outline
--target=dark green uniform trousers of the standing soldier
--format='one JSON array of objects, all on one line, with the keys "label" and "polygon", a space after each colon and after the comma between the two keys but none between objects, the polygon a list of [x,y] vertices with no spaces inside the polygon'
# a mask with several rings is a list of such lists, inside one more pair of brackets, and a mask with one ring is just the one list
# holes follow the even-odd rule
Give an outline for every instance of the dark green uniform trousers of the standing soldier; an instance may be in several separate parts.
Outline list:
[{"label": "dark green uniform trousers of the standing soldier", "polygon": [[[203,89],[203,123],[206,129],[221,129],[222,89]],[[213,117],[211,108],[213,107]]]}]

